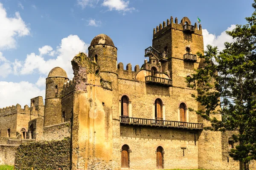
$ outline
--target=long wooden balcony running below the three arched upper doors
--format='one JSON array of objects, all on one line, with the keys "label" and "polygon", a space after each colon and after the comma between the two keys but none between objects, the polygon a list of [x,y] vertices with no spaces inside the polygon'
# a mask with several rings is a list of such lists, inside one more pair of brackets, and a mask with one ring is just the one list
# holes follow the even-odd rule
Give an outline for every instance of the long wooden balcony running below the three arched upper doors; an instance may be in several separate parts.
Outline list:
[{"label": "long wooden balcony running below the three arched upper doors", "polygon": [[130,118],[127,116],[120,116],[120,125],[161,127],[161,128],[180,129],[180,130],[203,130],[203,124],[198,124],[198,123],[189,123],[189,122],[182,122],[182,121],[164,121],[159,118],[157,119]]}]

